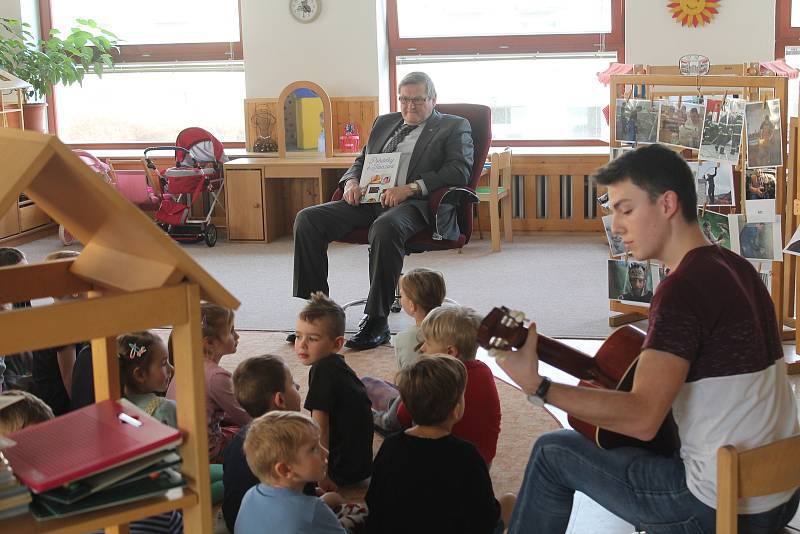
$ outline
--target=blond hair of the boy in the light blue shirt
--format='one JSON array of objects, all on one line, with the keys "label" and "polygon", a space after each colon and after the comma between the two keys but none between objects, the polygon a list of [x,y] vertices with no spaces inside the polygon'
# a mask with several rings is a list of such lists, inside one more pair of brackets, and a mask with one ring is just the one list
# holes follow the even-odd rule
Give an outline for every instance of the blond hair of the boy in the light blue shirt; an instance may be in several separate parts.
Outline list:
[{"label": "blond hair of the boy in the light blue shirt", "polygon": [[263,483],[276,480],[275,465],[292,462],[310,439],[318,439],[319,425],[300,412],[275,410],[253,419],[244,438],[244,455],[253,474]]}]

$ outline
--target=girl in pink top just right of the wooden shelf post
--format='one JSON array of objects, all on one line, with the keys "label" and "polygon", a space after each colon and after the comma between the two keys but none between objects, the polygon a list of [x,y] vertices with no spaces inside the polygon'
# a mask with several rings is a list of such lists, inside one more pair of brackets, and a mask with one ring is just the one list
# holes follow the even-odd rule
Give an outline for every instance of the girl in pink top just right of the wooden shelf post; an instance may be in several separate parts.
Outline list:
[{"label": "girl in pink top just right of the wooden shelf post", "polygon": [[[233,310],[210,302],[200,305],[203,330],[203,367],[206,385],[206,418],[208,420],[208,458],[222,463],[223,451],[239,429],[251,417],[233,396],[231,373],[219,366],[227,354],[236,352],[239,334],[233,324]],[[178,369],[180,372],[180,369]],[[175,398],[175,381],[169,385],[167,398]]]}]

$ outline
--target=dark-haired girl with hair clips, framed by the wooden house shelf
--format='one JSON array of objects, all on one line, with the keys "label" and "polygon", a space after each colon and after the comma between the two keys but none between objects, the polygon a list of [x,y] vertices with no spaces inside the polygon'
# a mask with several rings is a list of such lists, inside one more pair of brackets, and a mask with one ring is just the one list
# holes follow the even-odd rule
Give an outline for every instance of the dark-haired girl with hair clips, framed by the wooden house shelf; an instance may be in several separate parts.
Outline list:
[{"label": "dark-haired girl with hair clips, framed by the wooden house shelf", "polygon": [[172,376],[164,341],[149,331],[122,334],[117,337],[117,358],[125,398],[147,415],[177,428],[175,401],[158,395]]}]

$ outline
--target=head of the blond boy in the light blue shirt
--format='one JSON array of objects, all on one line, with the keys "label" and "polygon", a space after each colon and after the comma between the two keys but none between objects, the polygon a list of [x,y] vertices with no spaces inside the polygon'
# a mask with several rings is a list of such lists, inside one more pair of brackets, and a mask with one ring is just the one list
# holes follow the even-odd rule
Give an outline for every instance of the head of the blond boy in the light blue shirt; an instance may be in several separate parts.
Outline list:
[{"label": "head of the blond boy in the light blue shirt", "polygon": [[323,480],[328,454],[319,442],[319,426],[299,412],[268,412],[250,423],[244,440],[247,465],[270,485],[302,485]]}]

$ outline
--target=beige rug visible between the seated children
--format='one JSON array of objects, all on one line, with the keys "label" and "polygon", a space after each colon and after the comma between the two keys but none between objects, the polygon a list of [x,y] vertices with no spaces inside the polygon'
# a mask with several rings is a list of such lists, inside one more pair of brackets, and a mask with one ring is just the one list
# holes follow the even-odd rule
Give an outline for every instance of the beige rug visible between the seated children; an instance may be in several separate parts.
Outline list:
[{"label": "beige rug visible between the seated children", "polygon": [[[236,354],[223,357],[220,365],[233,372],[240,362],[259,354],[282,357],[292,370],[295,382],[300,385],[300,395],[305,400],[308,392],[309,368],[300,364],[292,345],[287,344],[280,333],[240,332]],[[386,380],[394,378],[394,349],[391,347],[382,346],[363,352],[345,350],[342,354],[358,376],[374,376]],[[532,406],[518,390],[497,379],[495,383],[500,396],[502,424],[497,456],[492,463],[490,474],[495,494],[502,495],[506,492],[519,491],[533,442],[538,436],[556,430],[559,426],[548,412]],[[382,441],[382,438],[375,434],[373,445],[376,453]],[[355,491],[347,496],[357,499],[362,495],[363,491]]]}]

